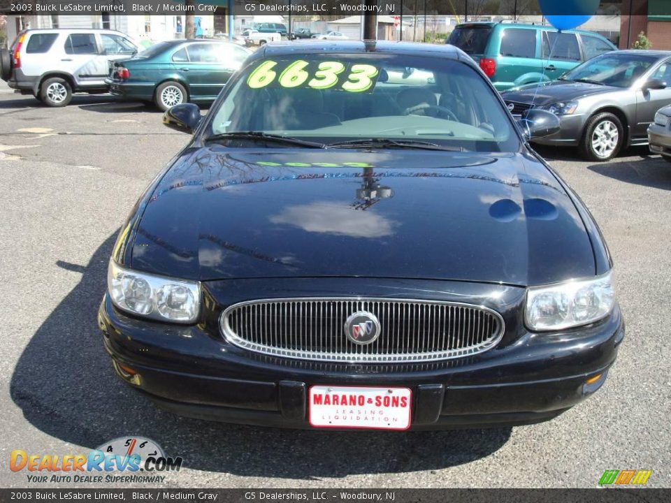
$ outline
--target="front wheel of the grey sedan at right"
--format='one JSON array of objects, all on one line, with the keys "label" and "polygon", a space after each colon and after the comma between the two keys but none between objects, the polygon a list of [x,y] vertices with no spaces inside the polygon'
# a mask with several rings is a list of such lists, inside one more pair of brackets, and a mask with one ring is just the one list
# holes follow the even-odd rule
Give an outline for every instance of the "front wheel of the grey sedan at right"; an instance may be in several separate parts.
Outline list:
[{"label": "front wheel of the grey sedan at right", "polygon": [[587,121],[580,153],[588,161],[609,161],[618,154],[624,143],[624,128],[620,119],[602,112]]}]

